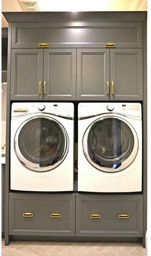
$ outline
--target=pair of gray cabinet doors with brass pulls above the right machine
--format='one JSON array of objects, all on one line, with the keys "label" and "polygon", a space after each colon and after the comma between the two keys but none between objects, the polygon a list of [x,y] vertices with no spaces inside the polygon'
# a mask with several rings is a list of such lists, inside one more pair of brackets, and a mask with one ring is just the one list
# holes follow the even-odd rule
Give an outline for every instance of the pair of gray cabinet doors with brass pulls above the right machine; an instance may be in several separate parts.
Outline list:
[{"label": "pair of gray cabinet doors with brass pulls above the right machine", "polygon": [[142,100],[142,49],[78,49],[77,99]]}]

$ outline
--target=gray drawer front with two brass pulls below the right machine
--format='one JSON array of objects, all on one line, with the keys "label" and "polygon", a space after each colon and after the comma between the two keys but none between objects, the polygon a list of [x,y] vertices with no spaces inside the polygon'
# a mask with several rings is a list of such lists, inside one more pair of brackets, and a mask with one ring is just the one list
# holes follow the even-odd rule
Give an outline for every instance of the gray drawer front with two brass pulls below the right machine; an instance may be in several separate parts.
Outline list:
[{"label": "gray drawer front with two brass pulls below the right machine", "polygon": [[77,195],[77,235],[143,235],[142,196]]}]

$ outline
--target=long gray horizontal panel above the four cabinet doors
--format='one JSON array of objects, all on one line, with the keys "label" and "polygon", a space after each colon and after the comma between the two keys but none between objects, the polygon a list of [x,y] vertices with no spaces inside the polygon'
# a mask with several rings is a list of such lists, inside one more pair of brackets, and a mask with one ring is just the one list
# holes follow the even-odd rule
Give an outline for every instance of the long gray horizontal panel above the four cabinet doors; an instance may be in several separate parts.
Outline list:
[{"label": "long gray horizontal panel above the four cabinet doors", "polygon": [[141,22],[13,23],[12,48],[38,47],[143,47]]}]

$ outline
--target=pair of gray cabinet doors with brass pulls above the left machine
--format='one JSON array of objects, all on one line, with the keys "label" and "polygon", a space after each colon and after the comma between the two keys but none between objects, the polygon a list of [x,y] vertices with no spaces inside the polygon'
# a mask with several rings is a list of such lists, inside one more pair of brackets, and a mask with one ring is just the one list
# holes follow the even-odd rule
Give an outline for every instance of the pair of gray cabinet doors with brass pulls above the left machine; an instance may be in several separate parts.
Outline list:
[{"label": "pair of gray cabinet doors with brass pulls above the left machine", "polygon": [[12,49],[11,99],[75,99],[76,49]]}]

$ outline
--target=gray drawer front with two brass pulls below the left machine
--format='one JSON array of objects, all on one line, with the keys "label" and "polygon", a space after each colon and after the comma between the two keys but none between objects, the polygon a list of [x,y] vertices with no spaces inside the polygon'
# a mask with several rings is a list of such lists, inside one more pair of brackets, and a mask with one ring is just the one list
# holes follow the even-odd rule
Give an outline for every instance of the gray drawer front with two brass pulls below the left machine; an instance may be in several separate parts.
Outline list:
[{"label": "gray drawer front with two brass pulls below the left machine", "polygon": [[10,235],[74,235],[74,194],[10,194]]}]

